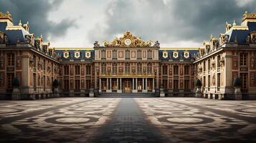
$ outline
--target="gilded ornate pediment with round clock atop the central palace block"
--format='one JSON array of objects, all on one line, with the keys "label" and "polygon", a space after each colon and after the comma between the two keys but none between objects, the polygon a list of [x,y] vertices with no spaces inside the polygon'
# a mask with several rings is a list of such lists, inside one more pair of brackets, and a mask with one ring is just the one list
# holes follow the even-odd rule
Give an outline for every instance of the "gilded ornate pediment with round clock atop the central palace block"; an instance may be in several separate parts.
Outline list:
[{"label": "gilded ornate pediment with round clock atop the central palace block", "polygon": [[130,31],[126,31],[120,38],[115,37],[113,41],[103,41],[104,46],[116,47],[116,46],[131,46],[131,47],[141,47],[141,46],[159,46],[158,41],[153,44],[153,41],[143,41],[141,38],[134,36]]}]

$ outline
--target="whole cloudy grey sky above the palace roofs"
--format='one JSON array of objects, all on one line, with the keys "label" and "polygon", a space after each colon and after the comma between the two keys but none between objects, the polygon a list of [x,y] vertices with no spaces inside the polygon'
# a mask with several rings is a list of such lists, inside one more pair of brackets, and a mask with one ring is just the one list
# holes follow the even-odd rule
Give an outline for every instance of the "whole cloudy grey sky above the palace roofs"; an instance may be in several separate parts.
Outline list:
[{"label": "whole cloudy grey sky above the palace roofs", "polygon": [[14,24],[29,21],[51,46],[92,47],[129,30],[161,47],[195,47],[223,33],[226,21],[240,24],[256,0],[0,0],[0,11]]}]

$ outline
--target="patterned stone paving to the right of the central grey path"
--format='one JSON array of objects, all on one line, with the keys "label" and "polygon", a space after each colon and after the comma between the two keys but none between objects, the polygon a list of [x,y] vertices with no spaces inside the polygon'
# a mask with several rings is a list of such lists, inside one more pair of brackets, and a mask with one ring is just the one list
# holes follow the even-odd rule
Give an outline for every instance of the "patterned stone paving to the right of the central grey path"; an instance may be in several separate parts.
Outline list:
[{"label": "patterned stone paving to the right of the central grey path", "polygon": [[255,101],[148,98],[136,102],[151,123],[175,142],[256,142]]}]

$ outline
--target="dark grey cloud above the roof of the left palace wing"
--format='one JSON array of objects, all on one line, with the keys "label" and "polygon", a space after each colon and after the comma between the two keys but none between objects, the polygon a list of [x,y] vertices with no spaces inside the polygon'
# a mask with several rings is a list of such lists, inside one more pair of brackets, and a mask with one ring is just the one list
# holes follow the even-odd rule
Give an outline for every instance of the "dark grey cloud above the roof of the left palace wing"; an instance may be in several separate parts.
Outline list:
[{"label": "dark grey cloud above the roof of the left palace wing", "polygon": [[36,36],[42,34],[46,39],[51,36],[54,39],[65,36],[67,29],[75,26],[74,19],[65,19],[60,23],[47,19],[51,11],[58,9],[61,4],[61,0],[0,0],[0,11],[9,11],[14,24],[18,24],[19,19],[22,20],[22,24],[29,21],[30,33]]}]

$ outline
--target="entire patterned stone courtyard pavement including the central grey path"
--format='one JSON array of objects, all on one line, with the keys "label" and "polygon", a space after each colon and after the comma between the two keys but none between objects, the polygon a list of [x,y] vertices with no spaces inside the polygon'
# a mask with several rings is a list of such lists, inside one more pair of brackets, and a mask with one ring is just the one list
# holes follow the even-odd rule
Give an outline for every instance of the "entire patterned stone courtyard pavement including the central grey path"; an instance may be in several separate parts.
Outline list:
[{"label": "entire patterned stone courtyard pavement including the central grey path", "polygon": [[0,101],[0,142],[256,142],[256,101]]}]

